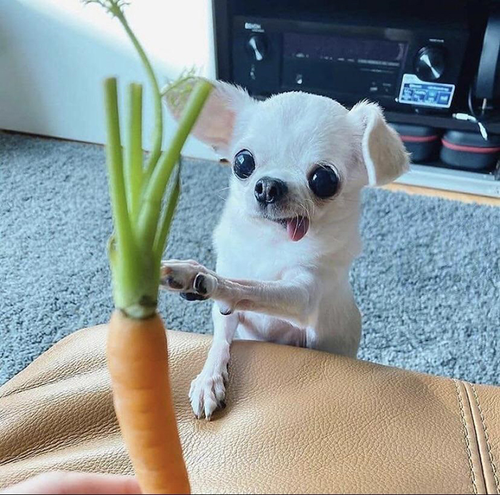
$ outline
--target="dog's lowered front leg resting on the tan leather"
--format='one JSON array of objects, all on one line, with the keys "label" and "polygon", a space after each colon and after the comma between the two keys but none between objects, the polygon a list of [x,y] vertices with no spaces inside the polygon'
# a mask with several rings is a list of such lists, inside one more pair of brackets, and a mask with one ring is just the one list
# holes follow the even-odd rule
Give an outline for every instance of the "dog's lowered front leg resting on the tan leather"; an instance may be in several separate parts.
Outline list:
[{"label": "dog's lowered front leg resting on the tan leather", "polygon": [[205,365],[201,373],[192,381],[189,391],[189,400],[194,414],[198,419],[205,416],[208,420],[216,409],[225,406],[229,347],[234,338],[236,326],[238,326],[238,315],[224,316],[214,304],[212,319],[214,321],[214,340]]}]

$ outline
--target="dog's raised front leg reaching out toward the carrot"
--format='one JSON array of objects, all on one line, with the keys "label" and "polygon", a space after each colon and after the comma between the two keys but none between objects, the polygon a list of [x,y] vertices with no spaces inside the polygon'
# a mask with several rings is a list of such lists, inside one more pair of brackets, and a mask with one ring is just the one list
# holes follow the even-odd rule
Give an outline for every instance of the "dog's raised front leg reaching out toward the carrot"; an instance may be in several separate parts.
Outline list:
[{"label": "dog's raised front leg reaching out toward the carrot", "polygon": [[179,291],[189,301],[214,299],[221,314],[255,311],[290,321],[298,326],[309,324],[316,297],[314,276],[295,268],[278,281],[226,279],[196,261],[164,261],[161,287]]}]

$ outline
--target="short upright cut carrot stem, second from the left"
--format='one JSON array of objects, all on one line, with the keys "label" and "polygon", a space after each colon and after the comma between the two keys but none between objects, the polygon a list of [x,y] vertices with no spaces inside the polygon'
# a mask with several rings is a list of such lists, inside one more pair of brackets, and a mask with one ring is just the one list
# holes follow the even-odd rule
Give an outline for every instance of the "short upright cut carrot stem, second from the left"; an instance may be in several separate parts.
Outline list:
[{"label": "short upright cut carrot stem, second from the left", "polygon": [[126,199],[132,224],[139,214],[142,189],[142,86],[132,83],[128,92],[128,144],[125,160]]}]

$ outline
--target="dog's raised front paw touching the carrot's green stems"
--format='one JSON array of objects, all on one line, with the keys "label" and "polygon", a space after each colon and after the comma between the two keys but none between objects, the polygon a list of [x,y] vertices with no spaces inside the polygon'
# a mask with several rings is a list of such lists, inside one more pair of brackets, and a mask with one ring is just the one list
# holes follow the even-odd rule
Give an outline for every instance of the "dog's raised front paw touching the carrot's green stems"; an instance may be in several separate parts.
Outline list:
[{"label": "dog's raised front paw touching the carrot's green stems", "polygon": [[178,291],[187,301],[203,301],[214,293],[217,276],[214,271],[191,259],[161,261],[160,287]]}]

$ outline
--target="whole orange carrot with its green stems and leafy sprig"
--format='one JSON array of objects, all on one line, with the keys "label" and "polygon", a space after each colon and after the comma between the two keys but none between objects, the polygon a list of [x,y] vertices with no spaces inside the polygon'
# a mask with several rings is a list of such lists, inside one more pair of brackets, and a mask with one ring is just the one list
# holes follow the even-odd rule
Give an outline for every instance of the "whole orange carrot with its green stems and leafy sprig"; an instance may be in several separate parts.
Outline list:
[{"label": "whole orange carrot with its green stems and leafy sprig", "polygon": [[[104,81],[106,164],[114,224],[108,251],[116,309],[107,343],[114,408],[143,493],[188,494],[166,334],[156,308],[161,257],[180,193],[181,149],[212,85],[188,73],[160,93],[151,64],[124,16],[126,1],[84,1],[104,6],[121,22],[146,69],[154,103],[151,153],[143,163],[142,86],[129,86],[126,145],[122,146],[117,82],[115,78]],[[162,96],[182,110],[164,151]]]}]

